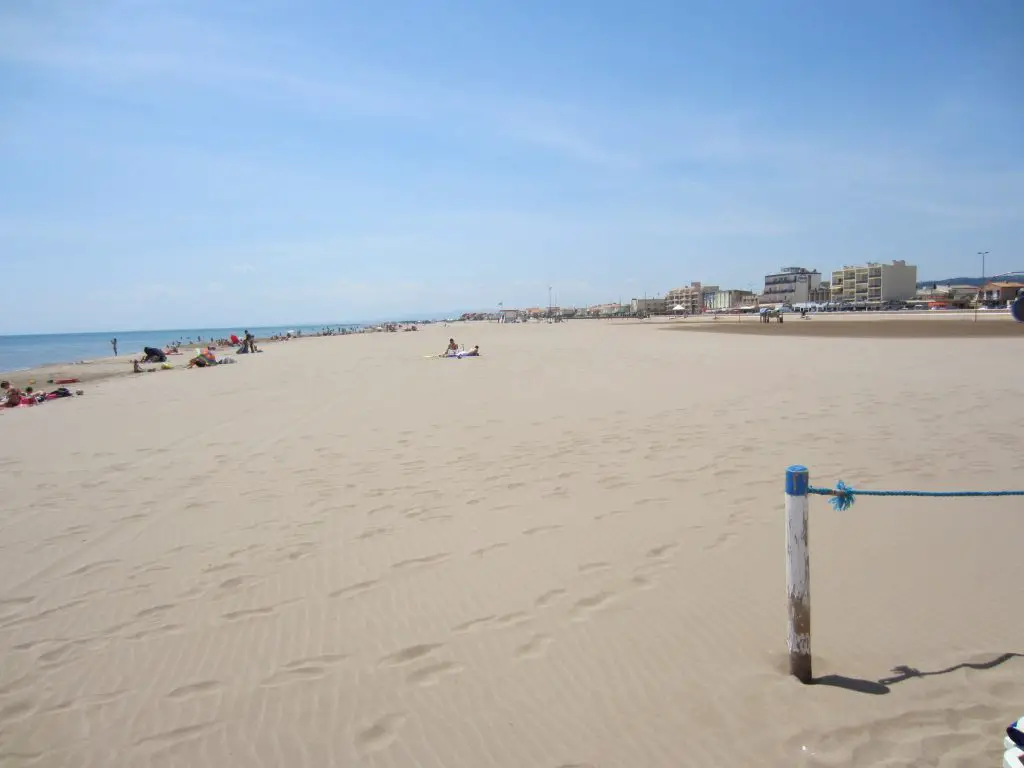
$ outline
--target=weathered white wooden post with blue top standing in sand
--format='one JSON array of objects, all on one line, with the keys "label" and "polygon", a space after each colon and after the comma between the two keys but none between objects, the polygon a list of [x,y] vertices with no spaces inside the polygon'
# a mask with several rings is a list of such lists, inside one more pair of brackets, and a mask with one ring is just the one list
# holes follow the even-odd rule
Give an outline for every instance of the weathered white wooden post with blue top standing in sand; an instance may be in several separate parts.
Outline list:
[{"label": "weathered white wooden post with blue top standing in sand", "polygon": [[790,597],[790,674],[811,682],[811,562],[807,548],[807,467],[785,470],[785,588]]}]

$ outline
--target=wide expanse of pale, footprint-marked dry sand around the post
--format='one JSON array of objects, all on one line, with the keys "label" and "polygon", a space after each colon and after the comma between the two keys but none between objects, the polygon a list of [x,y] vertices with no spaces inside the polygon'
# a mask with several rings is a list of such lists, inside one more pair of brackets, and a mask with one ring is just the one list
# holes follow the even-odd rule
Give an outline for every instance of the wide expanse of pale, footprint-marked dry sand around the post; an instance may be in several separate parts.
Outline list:
[{"label": "wide expanse of pale, footprint-marked dry sand around the post", "polygon": [[782,479],[1024,486],[1022,351],[435,326],[7,413],[0,764],[998,765],[1022,500],[812,499],[804,686]]}]

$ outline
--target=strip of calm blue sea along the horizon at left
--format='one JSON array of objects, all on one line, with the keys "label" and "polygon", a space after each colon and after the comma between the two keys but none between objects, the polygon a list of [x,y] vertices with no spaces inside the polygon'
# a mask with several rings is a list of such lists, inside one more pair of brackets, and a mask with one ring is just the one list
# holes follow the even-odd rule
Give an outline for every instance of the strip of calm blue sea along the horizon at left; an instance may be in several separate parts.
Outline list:
[{"label": "strip of calm blue sea along the horizon at left", "polygon": [[[315,334],[324,328],[355,329],[359,325],[336,326],[280,326],[250,328],[257,337],[273,336],[286,331]],[[198,343],[203,339],[226,339],[231,334],[242,336],[245,328],[190,328],[166,331],[115,331],[95,334],[32,334],[29,336],[0,336],[0,371],[19,371],[48,362],[77,362],[79,360],[110,357],[114,354],[111,339],[118,340],[118,354],[126,358],[137,355],[142,347],[164,347],[171,342]]]}]

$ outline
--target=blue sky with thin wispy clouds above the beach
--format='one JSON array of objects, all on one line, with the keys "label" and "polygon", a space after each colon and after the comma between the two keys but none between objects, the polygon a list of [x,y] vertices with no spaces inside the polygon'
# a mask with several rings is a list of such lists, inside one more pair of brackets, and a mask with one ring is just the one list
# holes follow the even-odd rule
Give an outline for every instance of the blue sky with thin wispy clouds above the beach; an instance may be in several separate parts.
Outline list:
[{"label": "blue sky with thin wispy clouds above the beach", "polygon": [[1024,269],[1020,0],[22,0],[0,333]]}]

